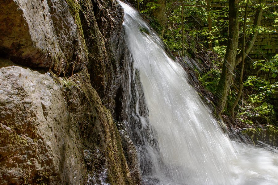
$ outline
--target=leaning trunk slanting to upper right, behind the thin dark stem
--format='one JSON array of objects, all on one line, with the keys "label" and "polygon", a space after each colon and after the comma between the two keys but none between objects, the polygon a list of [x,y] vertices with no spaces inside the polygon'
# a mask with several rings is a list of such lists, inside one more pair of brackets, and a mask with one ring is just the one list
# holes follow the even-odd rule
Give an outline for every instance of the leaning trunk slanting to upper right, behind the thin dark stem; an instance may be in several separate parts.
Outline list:
[{"label": "leaning trunk slanting to upper right, behind the thin dark stem", "polygon": [[[255,19],[254,19],[254,26],[260,26],[261,24],[261,19],[262,19],[262,14],[263,14],[263,8],[262,8],[262,4],[265,3],[266,0],[259,0],[259,5],[260,7],[258,7],[256,14],[255,14]],[[257,38],[258,35],[258,31],[256,31],[254,33],[254,35],[250,35],[248,38],[248,42],[245,45],[245,57],[250,53],[255,40]],[[237,59],[236,59],[236,65],[238,65],[240,62],[242,61],[242,51],[240,52],[239,55],[237,55]]]}]

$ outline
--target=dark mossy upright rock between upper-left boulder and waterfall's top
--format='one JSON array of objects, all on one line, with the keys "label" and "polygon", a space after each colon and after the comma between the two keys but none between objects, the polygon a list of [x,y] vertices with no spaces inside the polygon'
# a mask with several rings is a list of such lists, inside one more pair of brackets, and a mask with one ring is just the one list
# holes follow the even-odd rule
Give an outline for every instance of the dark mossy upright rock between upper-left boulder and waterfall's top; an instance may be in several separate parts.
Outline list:
[{"label": "dark mossy upright rock between upper-left boulder and waterfall's top", "polygon": [[115,117],[120,73],[112,45],[119,44],[124,19],[117,1],[80,1],[80,19],[88,48],[91,84]]}]

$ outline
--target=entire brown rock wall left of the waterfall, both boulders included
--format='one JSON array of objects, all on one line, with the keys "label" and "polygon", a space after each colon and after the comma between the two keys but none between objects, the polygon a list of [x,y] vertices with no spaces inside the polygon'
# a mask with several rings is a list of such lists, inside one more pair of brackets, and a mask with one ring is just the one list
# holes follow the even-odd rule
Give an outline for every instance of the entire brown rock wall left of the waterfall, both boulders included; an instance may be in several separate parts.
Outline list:
[{"label": "entire brown rock wall left of the waterfall, both boulders included", "polygon": [[119,4],[7,0],[0,10],[0,184],[140,184],[135,147],[115,124]]}]

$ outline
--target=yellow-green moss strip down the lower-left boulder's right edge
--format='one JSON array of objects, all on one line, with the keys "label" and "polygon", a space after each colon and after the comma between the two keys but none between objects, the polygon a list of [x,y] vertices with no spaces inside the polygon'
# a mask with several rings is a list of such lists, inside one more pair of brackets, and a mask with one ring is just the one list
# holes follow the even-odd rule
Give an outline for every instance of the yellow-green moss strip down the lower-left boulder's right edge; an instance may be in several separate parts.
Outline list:
[{"label": "yellow-green moss strip down the lower-left boulder's right edge", "polygon": [[[97,183],[99,181],[99,172],[103,168],[107,168],[106,183],[111,185],[133,184],[124,158],[119,131],[113,121],[111,112],[103,105],[99,95],[92,88],[87,68],[84,67],[79,73],[70,78],[63,78],[62,80],[60,78],[60,82],[66,90],[63,91],[65,97],[71,96],[73,92],[78,92],[85,99],[84,101],[86,101],[87,105],[91,107],[91,111],[94,112],[94,115],[90,117],[90,120],[92,119],[90,124],[94,126],[95,132],[99,132],[100,138],[90,138],[91,136],[87,135],[81,137],[81,142],[84,146],[83,149],[87,149],[91,153],[95,153],[95,149],[98,149],[100,153],[87,164],[86,176],[95,176]],[[81,130],[86,129],[88,126],[82,125],[82,123],[79,124],[79,129]],[[98,137],[98,135],[94,137]],[[94,139],[100,141],[100,144],[94,143]],[[104,143],[105,146],[101,143]],[[103,159],[105,159],[105,162]]]}]

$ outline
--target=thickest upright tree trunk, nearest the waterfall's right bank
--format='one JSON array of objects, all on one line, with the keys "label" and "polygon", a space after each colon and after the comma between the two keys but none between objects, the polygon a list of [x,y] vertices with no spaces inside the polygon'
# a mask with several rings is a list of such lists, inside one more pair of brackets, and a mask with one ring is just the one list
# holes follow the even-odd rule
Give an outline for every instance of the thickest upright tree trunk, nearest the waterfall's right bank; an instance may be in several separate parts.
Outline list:
[{"label": "thickest upright tree trunk, nearest the waterfall's right bank", "polygon": [[216,87],[216,104],[219,116],[221,115],[227,101],[236,62],[238,48],[238,2],[239,0],[229,0],[228,43],[221,76]]}]

